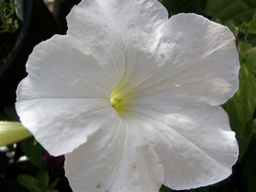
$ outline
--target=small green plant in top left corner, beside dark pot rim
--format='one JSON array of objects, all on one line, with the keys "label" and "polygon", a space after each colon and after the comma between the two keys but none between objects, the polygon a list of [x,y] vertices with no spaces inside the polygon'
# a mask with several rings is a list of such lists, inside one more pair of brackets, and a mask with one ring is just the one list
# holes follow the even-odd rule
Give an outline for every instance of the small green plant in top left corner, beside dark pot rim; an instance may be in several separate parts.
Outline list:
[{"label": "small green plant in top left corner, beside dark pot rim", "polygon": [[18,28],[18,18],[15,16],[15,8],[18,5],[14,0],[0,0],[0,34],[10,33],[14,34]]}]

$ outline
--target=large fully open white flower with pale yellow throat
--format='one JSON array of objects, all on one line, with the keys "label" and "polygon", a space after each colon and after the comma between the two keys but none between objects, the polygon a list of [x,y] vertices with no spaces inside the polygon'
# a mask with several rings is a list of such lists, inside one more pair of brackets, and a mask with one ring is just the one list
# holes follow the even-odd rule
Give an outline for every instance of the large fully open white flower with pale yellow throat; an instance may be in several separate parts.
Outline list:
[{"label": "large fully open white flower with pale yellow throat", "polygon": [[72,189],[155,192],[217,183],[238,155],[220,104],[238,90],[230,30],[156,0],[85,0],[34,48],[16,109]]}]

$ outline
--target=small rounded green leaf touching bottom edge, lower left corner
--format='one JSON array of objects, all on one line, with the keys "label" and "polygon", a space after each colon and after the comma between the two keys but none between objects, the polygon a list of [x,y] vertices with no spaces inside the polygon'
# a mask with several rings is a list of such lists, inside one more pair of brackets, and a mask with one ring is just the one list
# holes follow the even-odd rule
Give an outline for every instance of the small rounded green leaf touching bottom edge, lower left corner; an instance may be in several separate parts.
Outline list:
[{"label": "small rounded green leaf touching bottom edge, lower left corner", "polygon": [[37,180],[28,174],[18,175],[17,180],[18,183],[29,189],[30,192],[43,192],[38,188]]}]

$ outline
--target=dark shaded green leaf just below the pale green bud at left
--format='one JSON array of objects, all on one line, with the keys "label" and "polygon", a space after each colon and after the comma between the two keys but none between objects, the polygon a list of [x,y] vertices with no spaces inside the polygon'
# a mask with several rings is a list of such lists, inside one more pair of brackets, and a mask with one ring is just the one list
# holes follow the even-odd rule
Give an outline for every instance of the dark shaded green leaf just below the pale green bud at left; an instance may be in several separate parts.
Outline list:
[{"label": "dark shaded green leaf just below the pale green bud at left", "polygon": [[39,143],[34,145],[34,138],[25,139],[20,142],[21,150],[29,158],[32,164],[42,169],[43,166],[43,149]]}]

